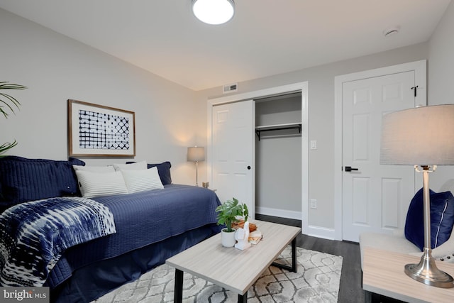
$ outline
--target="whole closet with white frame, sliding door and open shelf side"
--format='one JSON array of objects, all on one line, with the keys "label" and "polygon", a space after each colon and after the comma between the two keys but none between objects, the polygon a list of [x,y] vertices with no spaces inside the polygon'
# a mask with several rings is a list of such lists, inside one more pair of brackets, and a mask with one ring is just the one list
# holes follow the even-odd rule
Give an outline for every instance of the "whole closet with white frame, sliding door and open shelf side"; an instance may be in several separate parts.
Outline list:
[{"label": "whole closet with white frame, sliding door and open shelf side", "polygon": [[307,224],[308,105],[308,82],[209,99],[207,180],[221,202]]}]

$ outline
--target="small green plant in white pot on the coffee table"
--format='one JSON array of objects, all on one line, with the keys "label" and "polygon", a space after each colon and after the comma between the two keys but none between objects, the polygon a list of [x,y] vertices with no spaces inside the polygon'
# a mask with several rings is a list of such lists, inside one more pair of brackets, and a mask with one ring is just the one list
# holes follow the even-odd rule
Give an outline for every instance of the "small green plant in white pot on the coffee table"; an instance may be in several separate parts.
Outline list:
[{"label": "small green plant in white pot on the coffee table", "polygon": [[244,216],[244,221],[248,221],[249,210],[246,204],[240,204],[238,199],[232,198],[216,208],[218,216],[218,225],[225,225],[221,230],[221,242],[225,247],[235,246],[235,228],[232,228],[232,223],[238,221],[238,216]]}]

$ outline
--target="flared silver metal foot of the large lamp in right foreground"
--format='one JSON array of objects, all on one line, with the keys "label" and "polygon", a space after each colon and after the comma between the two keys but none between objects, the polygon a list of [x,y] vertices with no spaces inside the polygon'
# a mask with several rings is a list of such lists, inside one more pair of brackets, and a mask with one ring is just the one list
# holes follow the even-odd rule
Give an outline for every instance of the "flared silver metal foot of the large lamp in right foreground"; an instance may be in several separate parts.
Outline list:
[{"label": "flared silver metal foot of the large lamp in right foreground", "polygon": [[418,264],[405,265],[405,273],[412,279],[426,285],[441,288],[454,287],[453,277],[437,268],[431,250],[428,248],[424,248],[424,253]]}]

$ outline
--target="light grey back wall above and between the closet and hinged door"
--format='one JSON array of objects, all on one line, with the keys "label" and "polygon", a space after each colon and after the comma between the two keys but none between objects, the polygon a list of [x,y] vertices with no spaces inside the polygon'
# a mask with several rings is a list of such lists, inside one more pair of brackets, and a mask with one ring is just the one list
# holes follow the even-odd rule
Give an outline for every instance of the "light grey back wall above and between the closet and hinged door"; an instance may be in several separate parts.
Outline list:
[{"label": "light grey back wall above and between the closet and hinged door", "polygon": [[[389,50],[375,55],[334,62],[282,75],[238,83],[238,92],[253,92],[270,87],[309,82],[309,141],[317,149],[309,150],[309,199],[317,200],[317,209],[309,209],[309,225],[334,228],[334,77],[351,72],[427,59],[428,43]],[[220,97],[222,87],[198,92],[198,98]]]}]

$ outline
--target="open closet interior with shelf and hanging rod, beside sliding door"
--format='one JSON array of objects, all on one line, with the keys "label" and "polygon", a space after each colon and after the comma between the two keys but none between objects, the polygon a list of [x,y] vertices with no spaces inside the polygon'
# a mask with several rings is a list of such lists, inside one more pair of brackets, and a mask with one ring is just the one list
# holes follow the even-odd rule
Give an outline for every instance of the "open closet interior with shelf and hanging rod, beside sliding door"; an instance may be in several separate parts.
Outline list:
[{"label": "open closet interior with shelf and hanging rod, beside sliding door", "polygon": [[301,92],[255,101],[255,212],[301,219]]}]

